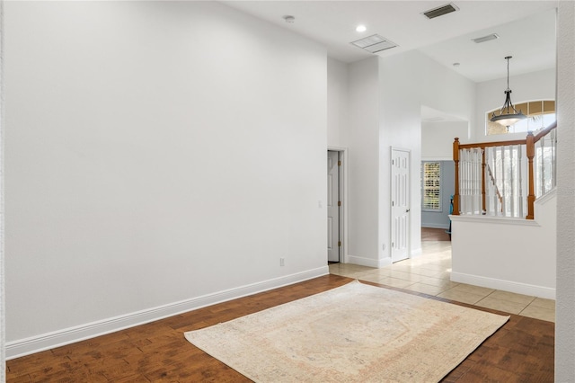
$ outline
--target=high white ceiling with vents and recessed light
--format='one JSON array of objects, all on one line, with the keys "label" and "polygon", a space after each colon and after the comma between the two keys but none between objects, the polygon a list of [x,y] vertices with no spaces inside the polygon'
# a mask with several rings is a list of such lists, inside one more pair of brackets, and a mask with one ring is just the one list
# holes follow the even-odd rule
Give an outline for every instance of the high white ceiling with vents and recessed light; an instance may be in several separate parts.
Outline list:
[{"label": "high white ceiling with vents and recessed light", "polygon": [[[315,40],[326,47],[328,56],[348,63],[374,55],[351,41],[379,34],[398,47],[376,55],[420,49],[474,82],[507,76],[506,56],[513,56],[511,76],[555,66],[556,0],[223,3]],[[445,4],[455,4],[459,10],[430,20],[421,14]],[[295,21],[286,22],[286,15],[294,16]],[[367,31],[356,31],[358,24],[364,24]],[[481,44],[471,40],[491,33],[500,38]]]}]

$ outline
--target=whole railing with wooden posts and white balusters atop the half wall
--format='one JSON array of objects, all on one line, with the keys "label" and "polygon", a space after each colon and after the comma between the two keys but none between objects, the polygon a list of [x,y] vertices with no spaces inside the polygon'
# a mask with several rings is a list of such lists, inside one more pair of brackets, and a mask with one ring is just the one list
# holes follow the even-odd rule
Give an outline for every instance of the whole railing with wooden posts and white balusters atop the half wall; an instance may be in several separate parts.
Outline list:
[{"label": "whole railing with wooden posts and white balusters atop the half wall", "polygon": [[453,143],[453,215],[534,219],[535,199],[556,180],[557,122],[525,139]]}]

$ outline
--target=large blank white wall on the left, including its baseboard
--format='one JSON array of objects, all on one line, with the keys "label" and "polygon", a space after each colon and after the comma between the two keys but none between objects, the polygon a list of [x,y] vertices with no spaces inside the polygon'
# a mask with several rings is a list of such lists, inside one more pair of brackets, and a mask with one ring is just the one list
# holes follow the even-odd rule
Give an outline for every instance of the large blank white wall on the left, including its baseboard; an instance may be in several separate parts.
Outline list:
[{"label": "large blank white wall on the left, including its baseboard", "polygon": [[212,2],[4,31],[9,354],[327,272],[323,48]]}]

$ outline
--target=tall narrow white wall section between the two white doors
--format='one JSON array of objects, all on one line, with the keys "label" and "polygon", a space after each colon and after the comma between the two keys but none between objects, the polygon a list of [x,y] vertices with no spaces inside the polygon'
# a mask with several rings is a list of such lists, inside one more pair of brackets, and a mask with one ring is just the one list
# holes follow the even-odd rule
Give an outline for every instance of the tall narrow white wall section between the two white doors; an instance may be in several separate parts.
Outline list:
[{"label": "tall narrow white wall section between the two white doors", "polygon": [[376,267],[378,227],[377,58],[349,64],[348,259]]}]

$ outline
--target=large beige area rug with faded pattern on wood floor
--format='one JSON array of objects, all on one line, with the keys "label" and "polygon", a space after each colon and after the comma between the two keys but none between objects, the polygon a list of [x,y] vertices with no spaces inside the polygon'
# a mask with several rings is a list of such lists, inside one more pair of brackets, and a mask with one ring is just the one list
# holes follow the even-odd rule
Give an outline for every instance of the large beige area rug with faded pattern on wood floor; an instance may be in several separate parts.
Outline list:
[{"label": "large beige area rug with faded pattern on wood floor", "polygon": [[505,324],[358,281],[185,333],[256,382],[437,382]]}]

